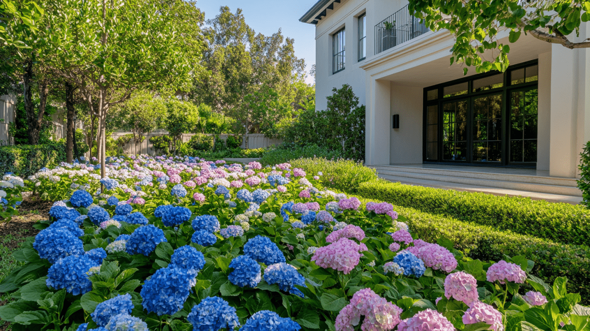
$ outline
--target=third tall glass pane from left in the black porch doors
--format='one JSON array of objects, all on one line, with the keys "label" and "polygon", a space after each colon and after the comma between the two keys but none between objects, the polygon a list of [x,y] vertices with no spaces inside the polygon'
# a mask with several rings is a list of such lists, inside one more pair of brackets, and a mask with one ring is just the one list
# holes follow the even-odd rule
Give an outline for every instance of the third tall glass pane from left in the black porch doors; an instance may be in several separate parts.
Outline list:
[{"label": "third tall glass pane from left in the black porch doors", "polygon": [[473,162],[501,162],[502,95],[473,98]]}]

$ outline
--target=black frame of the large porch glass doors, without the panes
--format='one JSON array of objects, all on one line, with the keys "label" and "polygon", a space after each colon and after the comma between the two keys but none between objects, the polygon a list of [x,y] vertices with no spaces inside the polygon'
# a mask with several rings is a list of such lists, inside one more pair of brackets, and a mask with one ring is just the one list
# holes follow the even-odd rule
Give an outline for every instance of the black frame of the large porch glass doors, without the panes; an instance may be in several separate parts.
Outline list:
[{"label": "black frame of the large porch glass doors, without the panes", "polygon": [[[514,168],[536,168],[537,162],[510,162],[510,151],[509,151],[509,144],[510,144],[510,137],[509,137],[509,132],[507,132],[508,130],[508,126],[509,126],[509,114],[507,113],[509,110],[509,102],[510,102],[510,93],[513,90],[522,90],[522,89],[538,89],[538,85],[539,85],[539,77],[538,77],[538,73],[537,73],[537,80],[535,81],[529,81],[526,82],[525,79],[525,83],[519,83],[519,84],[510,84],[511,83],[511,77],[510,74],[512,73],[512,71],[514,70],[519,70],[520,68],[526,68],[526,67],[532,67],[534,65],[537,65],[537,70],[538,70],[538,61],[537,60],[531,60],[531,61],[526,61],[524,63],[519,63],[519,64],[515,64],[515,65],[510,65],[510,67],[508,68],[508,70],[506,70],[503,73],[503,86],[502,87],[496,87],[494,89],[489,89],[489,90],[483,90],[483,91],[477,91],[474,92],[473,91],[473,81],[474,80],[478,80],[480,78],[485,78],[485,77],[489,77],[489,76],[494,76],[496,74],[499,73],[499,71],[490,71],[489,73],[483,73],[483,74],[476,74],[473,76],[468,76],[468,77],[464,77],[464,78],[460,78],[457,80],[453,80],[453,81],[447,81],[445,83],[441,83],[441,84],[436,84],[433,86],[429,86],[426,87],[424,89],[424,96],[423,96],[423,101],[422,101],[422,105],[423,105],[423,117],[422,117],[422,163],[425,164],[454,164],[454,165],[465,165],[465,166],[500,166],[500,167],[514,167]],[[460,83],[465,83],[467,82],[468,86],[467,86],[467,94],[460,94],[458,96],[450,96],[450,97],[444,97],[444,95],[442,94],[442,91],[444,89],[444,87],[448,87],[448,86],[452,86],[455,84],[460,84]],[[432,91],[432,90],[437,90],[438,93],[438,97],[437,99],[433,99],[433,100],[428,100],[428,91]],[[471,130],[473,130],[472,126],[473,126],[473,119],[471,119],[471,116],[473,116],[473,100],[474,97],[479,97],[479,96],[490,96],[490,95],[494,95],[494,94],[501,94],[502,96],[502,122],[501,122],[501,134],[502,134],[502,143],[501,143],[501,162],[490,162],[490,161],[486,161],[486,162],[474,162],[473,161],[473,150],[471,150],[473,148],[473,133]],[[442,116],[443,116],[443,112],[442,112],[442,105],[444,103],[446,103],[447,101],[452,101],[452,100],[467,100],[468,101],[468,107],[470,107],[468,109],[468,132],[467,132],[467,136],[468,136],[468,143],[467,143],[467,162],[461,161],[461,160],[443,160],[443,141],[442,141]],[[433,105],[437,105],[438,106],[438,123],[439,123],[439,127],[438,127],[438,146],[437,146],[437,152],[438,152],[438,158],[437,160],[428,160],[427,159],[427,116],[428,116],[428,107],[429,106],[433,106]],[[538,137],[537,137],[537,141],[538,141]],[[538,151],[538,145],[537,145],[537,151]],[[537,154],[537,160],[538,160],[538,154]]]}]

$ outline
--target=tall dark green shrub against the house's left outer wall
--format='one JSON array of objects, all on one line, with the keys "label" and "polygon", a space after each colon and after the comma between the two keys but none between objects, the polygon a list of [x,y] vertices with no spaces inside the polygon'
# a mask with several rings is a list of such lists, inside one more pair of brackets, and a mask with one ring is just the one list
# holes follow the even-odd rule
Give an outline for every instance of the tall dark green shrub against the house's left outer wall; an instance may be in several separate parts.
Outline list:
[{"label": "tall dark green shrub against the house's left outer wall", "polygon": [[286,142],[297,145],[317,145],[339,151],[344,158],[365,159],[365,106],[349,85],[333,89],[327,97],[327,110],[303,110],[296,120],[281,123],[281,135]]}]

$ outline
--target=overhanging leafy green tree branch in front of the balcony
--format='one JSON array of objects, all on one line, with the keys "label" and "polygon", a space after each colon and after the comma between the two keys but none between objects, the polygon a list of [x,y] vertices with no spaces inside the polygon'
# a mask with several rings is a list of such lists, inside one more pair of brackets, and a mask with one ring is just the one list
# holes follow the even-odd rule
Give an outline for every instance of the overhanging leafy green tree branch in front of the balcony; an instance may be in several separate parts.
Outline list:
[{"label": "overhanging leafy green tree branch in front of the balcony", "polygon": [[[509,65],[510,45],[502,44],[497,35],[509,30],[509,42],[520,35],[561,44],[568,48],[587,48],[590,41],[571,41],[572,32],[579,34],[581,22],[590,20],[590,0],[409,0],[409,11],[422,18],[431,30],[447,29],[456,38],[451,64],[473,65],[478,73],[505,71]],[[484,52],[494,51],[486,59]],[[467,74],[467,68],[463,68]]]}]

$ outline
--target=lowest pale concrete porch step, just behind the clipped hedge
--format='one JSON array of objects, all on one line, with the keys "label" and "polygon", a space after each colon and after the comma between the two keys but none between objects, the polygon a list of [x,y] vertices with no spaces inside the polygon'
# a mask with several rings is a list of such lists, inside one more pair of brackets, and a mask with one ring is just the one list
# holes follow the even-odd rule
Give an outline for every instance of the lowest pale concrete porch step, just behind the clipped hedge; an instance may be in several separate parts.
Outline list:
[{"label": "lowest pale concrete porch step, just behind the clipped hedge", "polygon": [[499,196],[526,196],[533,200],[545,200],[549,202],[565,202],[572,205],[577,205],[582,201],[581,196],[572,196],[572,195],[562,195],[562,194],[549,194],[549,193],[542,193],[542,192],[531,192],[531,191],[522,191],[516,189],[504,189],[504,188],[494,188],[489,186],[483,185],[469,185],[464,183],[453,183],[453,182],[442,182],[442,181],[433,181],[428,179],[418,179],[412,177],[404,177],[404,176],[394,176],[394,175],[385,175],[380,173],[380,178],[386,179],[390,182],[400,182],[402,184],[407,185],[416,185],[416,186],[425,186],[425,187],[432,187],[432,188],[441,188],[441,189],[454,189],[455,191],[468,191],[468,192],[483,192],[487,194],[499,195]]}]

